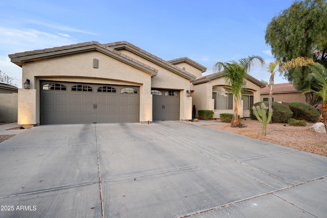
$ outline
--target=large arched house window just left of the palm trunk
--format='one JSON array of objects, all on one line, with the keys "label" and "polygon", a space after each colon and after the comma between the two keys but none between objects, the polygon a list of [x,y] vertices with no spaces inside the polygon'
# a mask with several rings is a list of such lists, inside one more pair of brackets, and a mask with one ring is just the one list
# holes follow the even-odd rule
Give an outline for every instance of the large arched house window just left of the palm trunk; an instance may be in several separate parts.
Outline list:
[{"label": "large arched house window just left of the palm trunk", "polygon": [[232,110],[233,95],[230,89],[213,87],[213,99],[215,100],[215,110]]}]

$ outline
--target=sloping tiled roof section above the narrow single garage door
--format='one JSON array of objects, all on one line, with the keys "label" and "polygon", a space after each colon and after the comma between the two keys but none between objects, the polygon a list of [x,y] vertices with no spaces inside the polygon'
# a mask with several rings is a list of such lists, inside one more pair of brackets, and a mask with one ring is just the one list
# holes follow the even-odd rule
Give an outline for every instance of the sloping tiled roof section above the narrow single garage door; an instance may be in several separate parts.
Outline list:
[{"label": "sloping tiled roof section above the narrow single garage door", "polygon": [[159,58],[145,50],[142,50],[127,41],[117,41],[117,42],[107,43],[107,44],[103,44],[103,45],[105,45],[106,48],[113,48],[114,50],[126,49],[127,51],[130,51],[130,52],[132,52],[136,55],[139,55],[153,63],[156,63],[159,66],[161,66],[169,71],[172,71],[173,73],[176,73],[186,79],[189,79],[190,81],[195,81],[195,79],[196,79],[196,76],[194,76],[193,74],[191,74],[185,70],[182,70],[182,69],[174,66],[174,64],[170,63],[169,61],[162,60],[161,58]]}]

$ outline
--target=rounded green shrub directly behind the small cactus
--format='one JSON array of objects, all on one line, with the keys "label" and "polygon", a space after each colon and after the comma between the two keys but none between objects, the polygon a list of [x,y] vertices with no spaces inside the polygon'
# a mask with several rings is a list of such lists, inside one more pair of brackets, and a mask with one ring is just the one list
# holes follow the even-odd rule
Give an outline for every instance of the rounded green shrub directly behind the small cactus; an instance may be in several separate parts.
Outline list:
[{"label": "rounded green shrub directly behind the small cactus", "polygon": [[[253,104],[253,106],[261,106],[262,103],[265,103],[268,106],[268,101],[260,101]],[[271,120],[273,123],[287,123],[289,119],[292,118],[293,112],[285,106],[284,104],[278,102],[272,102],[272,117]],[[268,113],[268,112],[267,112]],[[268,116],[268,114],[267,114]],[[250,118],[256,120],[255,115],[253,114],[253,109],[250,108]]]}]

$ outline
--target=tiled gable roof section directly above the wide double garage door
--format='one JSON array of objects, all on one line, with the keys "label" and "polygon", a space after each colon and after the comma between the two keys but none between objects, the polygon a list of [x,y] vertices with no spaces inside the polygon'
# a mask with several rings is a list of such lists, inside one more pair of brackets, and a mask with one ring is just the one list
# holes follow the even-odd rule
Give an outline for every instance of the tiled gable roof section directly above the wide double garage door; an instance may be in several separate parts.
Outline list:
[{"label": "tiled gable roof section directly above the wide double garage door", "polygon": [[105,55],[108,55],[116,60],[120,60],[132,67],[138,68],[144,72],[156,76],[158,70],[142,63],[134,58],[131,58],[119,51],[112,48],[108,48],[105,45],[100,44],[97,41],[90,41],[84,43],[78,43],[70,46],[55,47],[51,49],[34,50],[28,52],[21,52],[8,55],[11,58],[11,62],[21,67],[22,64],[29,61],[48,59],[53,57],[66,56],[71,54],[78,54],[87,51],[98,51]]}]

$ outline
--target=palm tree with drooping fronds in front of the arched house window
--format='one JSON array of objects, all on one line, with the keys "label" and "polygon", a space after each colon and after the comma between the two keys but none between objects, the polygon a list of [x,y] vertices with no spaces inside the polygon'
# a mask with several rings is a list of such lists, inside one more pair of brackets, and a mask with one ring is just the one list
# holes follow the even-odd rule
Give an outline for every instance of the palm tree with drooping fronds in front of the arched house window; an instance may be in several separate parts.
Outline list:
[{"label": "palm tree with drooping fronds in front of the arched house window", "polygon": [[260,63],[262,67],[265,64],[265,60],[262,57],[249,56],[247,58],[241,58],[238,61],[216,62],[214,65],[214,69],[218,70],[218,72],[223,70],[225,84],[230,86],[231,93],[234,97],[235,106],[231,127],[238,127],[240,125],[238,119],[238,102],[241,100],[244,79],[247,78],[247,73],[255,61]]}]

